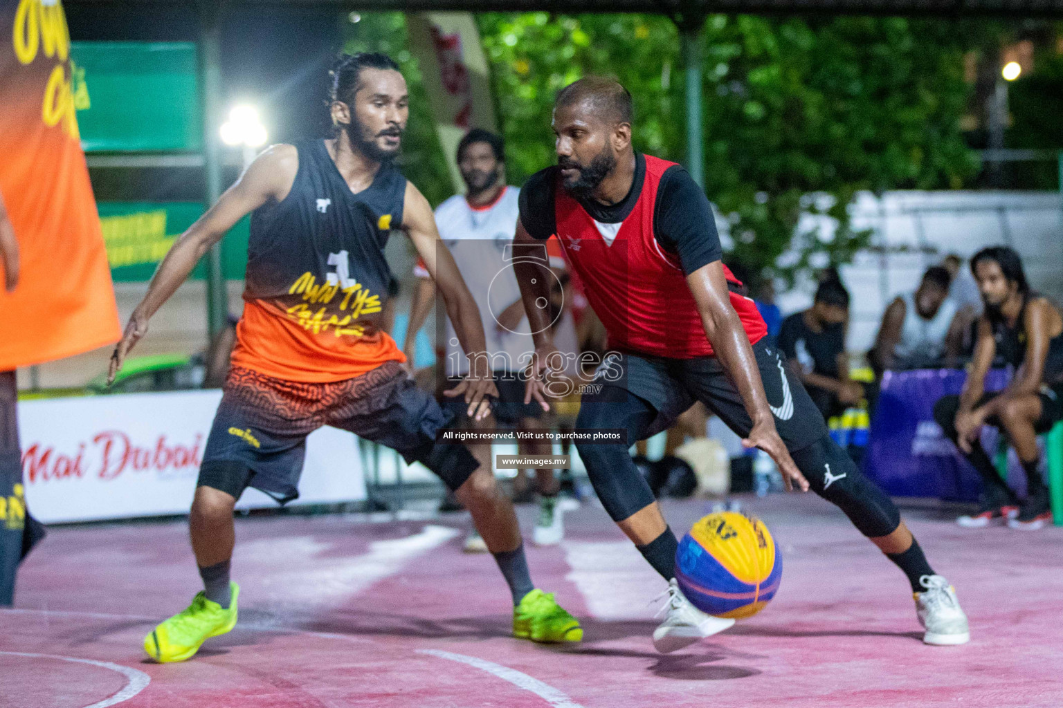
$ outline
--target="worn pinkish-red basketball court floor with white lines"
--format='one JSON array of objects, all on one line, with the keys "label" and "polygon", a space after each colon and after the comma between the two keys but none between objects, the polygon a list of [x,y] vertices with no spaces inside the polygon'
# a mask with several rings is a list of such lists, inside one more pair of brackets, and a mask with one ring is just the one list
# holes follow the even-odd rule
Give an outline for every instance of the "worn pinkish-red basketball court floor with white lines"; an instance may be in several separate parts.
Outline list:
[{"label": "worn pinkish-red basketball court floor with white lines", "polygon": [[[779,540],[781,589],[670,656],[649,640],[663,584],[596,505],[567,515],[561,547],[528,549],[536,582],[581,618],[581,644],[508,636],[494,563],[460,552],[463,515],[252,517],[237,524],[240,623],[165,666],[140,640],[199,589],[185,523],[56,528],[0,610],[0,706],[1063,706],[1063,530],[910,513],[972,623],[969,644],[931,647],[900,571],[840,513],[811,495],[743,501]],[[677,530],[706,511],[667,506]]]}]

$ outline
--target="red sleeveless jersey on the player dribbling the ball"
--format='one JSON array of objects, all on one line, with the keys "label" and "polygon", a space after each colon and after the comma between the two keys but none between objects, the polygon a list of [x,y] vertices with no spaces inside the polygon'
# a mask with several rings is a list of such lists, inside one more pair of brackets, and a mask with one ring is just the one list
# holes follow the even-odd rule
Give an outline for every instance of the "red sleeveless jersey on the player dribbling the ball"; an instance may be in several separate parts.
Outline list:
[{"label": "red sleeveless jersey on the player dribbling the ball", "polygon": [[[673,359],[711,357],[712,345],[679,259],[661,248],[654,237],[657,187],[675,162],[649,155],[645,159],[642,193],[619,230],[613,230],[617,224],[595,222],[558,179],[557,237],[590,306],[605,325],[610,348]],[[729,282],[741,286],[726,265],[724,274]],[[730,301],[750,343],[767,333],[752,299],[730,293]]]}]

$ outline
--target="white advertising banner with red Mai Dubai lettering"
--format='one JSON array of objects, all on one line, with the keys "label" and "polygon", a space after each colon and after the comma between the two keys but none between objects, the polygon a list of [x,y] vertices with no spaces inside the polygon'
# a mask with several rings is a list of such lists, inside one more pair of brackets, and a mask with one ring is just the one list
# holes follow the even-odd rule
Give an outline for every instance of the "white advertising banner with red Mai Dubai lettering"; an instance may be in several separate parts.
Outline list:
[{"label": "white advertising banner with red Mai Dubai lettering", "polygon": [[[45,523],[186,514],[220,391],[22,401],[22,479]],[[307,438],[291,504],[366,498],[357,438],[322,428]],[[237,508],[276,506],[248,489]]]}]

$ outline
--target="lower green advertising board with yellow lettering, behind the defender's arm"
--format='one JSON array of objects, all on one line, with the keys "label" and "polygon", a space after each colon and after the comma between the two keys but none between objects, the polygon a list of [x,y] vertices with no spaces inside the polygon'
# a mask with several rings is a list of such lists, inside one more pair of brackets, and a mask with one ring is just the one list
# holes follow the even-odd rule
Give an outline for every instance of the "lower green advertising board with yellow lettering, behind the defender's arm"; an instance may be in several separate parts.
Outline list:
[{"label": "lower green advertising board with yellow lettering, behind the defender's arm", "polygon": [[[203,213],[198,202],[100,202],[97,204],[111,276],[116,282],[150,280],[158,262],[182,231]],[[221,242],[222,273],[240,280],[248,260],[250,217],[244,217]],[[204,262],[192,271],[202,279]]]}]

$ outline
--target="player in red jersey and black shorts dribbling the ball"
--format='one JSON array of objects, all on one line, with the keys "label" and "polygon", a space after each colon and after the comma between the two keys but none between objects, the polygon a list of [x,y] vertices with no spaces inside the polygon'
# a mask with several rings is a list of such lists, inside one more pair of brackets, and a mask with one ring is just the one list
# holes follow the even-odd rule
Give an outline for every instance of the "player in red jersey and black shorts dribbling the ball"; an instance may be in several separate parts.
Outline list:
[{"label": "player in red jersey and black shorts dribbling the ball", "polygon": [[[533,175],[520,195],[514,256],[556,234],[588,300],[609,333],[597,393],[586,394],[577,428],[624,429],[627,442],[576,447],[603,505],[669,582],[668,616],[654,643],[671,652],[726,629],[675,582],[676,538],[627,448],[664,430],[695,400],[747,447],[775,460],[787,487],[809,488],[842,508],[908,575],[924,641],[960,644],[967,620],[948,582],[934,573],[897,507],[827,434],[823,416],[786,361],[753,300],[721,262],[712,207],[687,172],[631,148],[631,96],[588,77],[562,89],[554,107],[556,167]],[[538,298],[537,266],[514,260],[536,334],[525,399],[545,402],[542,375],[556,350]],[[682,563],[682,558],[679,559]]]}]

